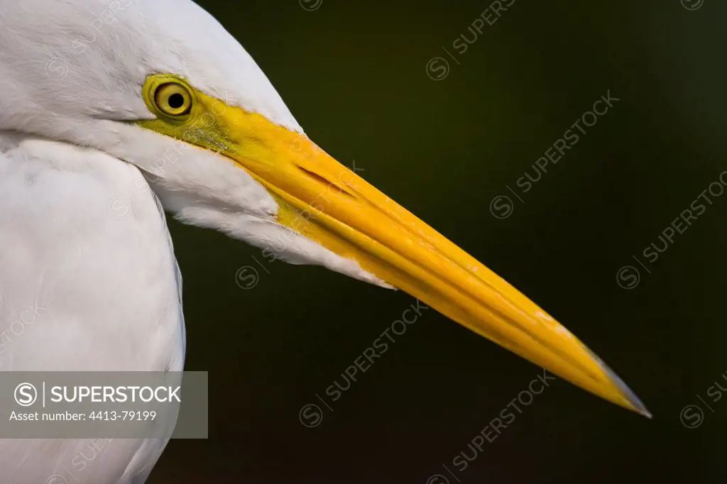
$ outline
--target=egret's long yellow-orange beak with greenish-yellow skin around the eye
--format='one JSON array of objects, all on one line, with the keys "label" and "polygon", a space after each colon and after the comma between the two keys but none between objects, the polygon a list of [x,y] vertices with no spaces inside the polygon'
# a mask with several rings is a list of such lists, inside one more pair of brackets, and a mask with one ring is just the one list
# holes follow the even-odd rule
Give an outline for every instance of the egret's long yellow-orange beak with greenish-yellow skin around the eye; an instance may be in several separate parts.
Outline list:
[{"label": "egret's long yellow-orange beak with greenish-yellow skin around the eye", "polygon": [[[168,84],[190,94],[184,113],[156,104],[158,88],[172,89]],[[650,416],[618,376],[544,310],[305,135],[225,105],[176,76],[150,76],[142,92],[158,118],[140,126],[229,158],[276,198],[281,225],[547,371]]]}]

